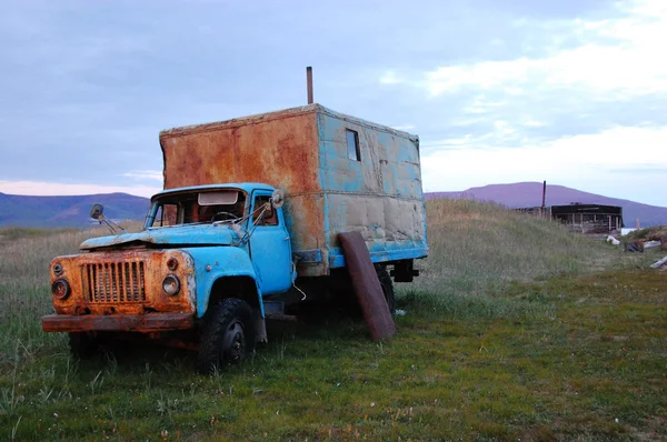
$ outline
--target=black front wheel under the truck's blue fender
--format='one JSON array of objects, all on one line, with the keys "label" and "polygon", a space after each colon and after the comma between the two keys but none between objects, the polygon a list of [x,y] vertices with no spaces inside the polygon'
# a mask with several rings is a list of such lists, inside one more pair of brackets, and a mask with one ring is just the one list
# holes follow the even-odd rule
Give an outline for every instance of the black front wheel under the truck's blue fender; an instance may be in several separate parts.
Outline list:
[{"label": "black front wheel under the truck's blue fender", "polygon": [[243,300],[227,298],[207,313],[197,358],[201,374],[237,365],[255,350],[252,309]]}]

